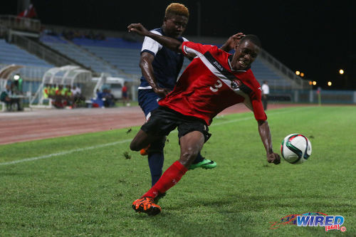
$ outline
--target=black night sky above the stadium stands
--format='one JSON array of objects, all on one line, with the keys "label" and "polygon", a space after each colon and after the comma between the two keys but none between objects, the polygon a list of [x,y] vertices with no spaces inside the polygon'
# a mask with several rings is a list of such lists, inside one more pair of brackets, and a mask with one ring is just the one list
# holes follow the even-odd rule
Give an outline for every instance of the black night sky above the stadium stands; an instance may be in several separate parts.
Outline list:
[{"label": "black night sky above the stadium stands", "polygon": [[[15,2],[15,3],[14,3]],[[174,1],[33,0],[42,23],[126,31],[129,23],[162,25],[164,10]],[[198,1],[177,1],[191,14],[184,36],[197,35]],[[203,1],[201,36],[256,34],[263,48],[291,70],[305,73],[327,89],[356,90],[355,1]],[[1,14],[16,14],[9,1]],[[189,37],[188,37],[189,38]],[[338,71],[345,70],[344,75]]]}]

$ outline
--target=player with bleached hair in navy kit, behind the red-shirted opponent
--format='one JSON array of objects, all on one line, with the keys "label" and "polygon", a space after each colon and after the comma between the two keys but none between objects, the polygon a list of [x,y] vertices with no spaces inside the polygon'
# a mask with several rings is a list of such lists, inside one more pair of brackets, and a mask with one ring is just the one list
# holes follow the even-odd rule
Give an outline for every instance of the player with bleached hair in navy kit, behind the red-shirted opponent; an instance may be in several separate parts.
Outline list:
[{"label": "player with bleached hair in navy kit, behind the red-shirted opponent", "polygon": [[[186,38],[182,37],[182,33],[187,26],[188,19],[189,10],[187,7],[183,4],[169,4],[164,14],[162,27],[155,28],[150,32],[159,36],[176,38],[180,42],[187,41]],[[242,35],[242,33],[238,33],[231,36],[221,48],[226,51],[231,50],[233,46],[229,46],[229,43],[239,40]],[[152,38],[145,37],[140,58],[142,77],[138,88],[138,102],[145,113],[146,120],[150,119],[151,112],[159,106],[158,100],[161,100],[173,90],[182,69],[183,60],[184,56],[181,52],[172,51]],[[152,186],[162,175],[164,142],[165,136],[156,139],[149,144],[149,147],[141,149],[140,152],[143,155],[148,155]],[[197,167],[212,169],[216,167],[216,162],[204,159],[199,153],[189,169]]]}]

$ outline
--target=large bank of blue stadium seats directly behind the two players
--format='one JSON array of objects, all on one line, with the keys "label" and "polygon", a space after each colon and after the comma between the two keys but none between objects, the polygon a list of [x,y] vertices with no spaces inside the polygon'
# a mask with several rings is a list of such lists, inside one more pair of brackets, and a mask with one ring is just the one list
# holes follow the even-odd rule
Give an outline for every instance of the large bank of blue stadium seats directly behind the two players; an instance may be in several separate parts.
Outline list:
[{"label": "large bank of blue stadium seats directly behind the two players", "polygon": [[[73,38],[73,41],[69,42],[58,36],[43,36],[41,41],[98,73],[106,72],[114,76],[122,76],[118,75],[120,71],[112,69],[119,68],[122,72],[135,75],[137,78],[141,76],[139,62],[142,43],[140,42],[126,41],[122,38],[106,38],[103,41]],[[184,59],[181,73],[189,63],[189,60]],[[291,86],[290,80],[284,78],[261,58],[256,59],[252,69],[261,84],[263,80],[267,80],[273,88],[290,88]]]}]

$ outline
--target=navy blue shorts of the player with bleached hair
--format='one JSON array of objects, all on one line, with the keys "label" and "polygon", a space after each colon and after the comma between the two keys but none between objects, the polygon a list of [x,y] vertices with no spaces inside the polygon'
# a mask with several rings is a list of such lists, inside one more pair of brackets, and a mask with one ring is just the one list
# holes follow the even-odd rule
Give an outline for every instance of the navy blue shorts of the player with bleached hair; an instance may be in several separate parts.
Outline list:
[{"label": "navy blue shorts of the player with bleached hair", "polygon": [[152,89],[147,90],[138,90],[138,104],[140,105],[142,111],[147,115],[150,114],[153,110],[157,109],[158,100],[161,98],[153,92]]}]

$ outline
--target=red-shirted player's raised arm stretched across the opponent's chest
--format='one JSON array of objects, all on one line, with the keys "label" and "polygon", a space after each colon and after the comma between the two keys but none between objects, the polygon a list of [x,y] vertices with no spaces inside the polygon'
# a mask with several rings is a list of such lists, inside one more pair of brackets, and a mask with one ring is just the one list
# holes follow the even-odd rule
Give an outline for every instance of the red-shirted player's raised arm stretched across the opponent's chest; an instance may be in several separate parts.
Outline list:
[{"label": "red-shirted player's raised arm stretched across the opponent's chest", "polygon": [[141,23],[131,23],[130,26],[127,26],[127,29],[129,32],[136,32],[141,36],[150,37],[158,43],[162,44],[162,46],[165,46],[172,51],[175,51],[177,53],[182,52],[182,42],[178,41],[175,38],[159,36],[155,33],[152,33],[151,31],[147,31],[147,29],[143,27]]}]

